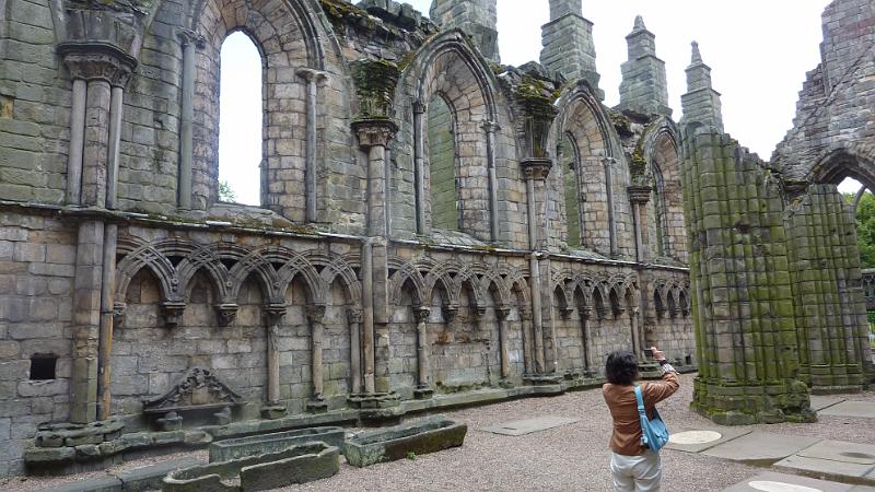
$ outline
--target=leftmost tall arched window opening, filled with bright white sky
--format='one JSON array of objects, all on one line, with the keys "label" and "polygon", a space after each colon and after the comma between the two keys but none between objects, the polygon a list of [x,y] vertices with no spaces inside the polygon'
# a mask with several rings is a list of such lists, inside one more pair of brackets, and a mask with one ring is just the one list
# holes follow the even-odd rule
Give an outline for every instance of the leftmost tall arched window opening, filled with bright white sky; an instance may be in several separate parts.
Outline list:
[{"label": "leftmost tall arched window opening, filled with bright white sky", "polygon": [[221,57],[219,200],[261,206],[261,54],[237,31],[225,38]]}]

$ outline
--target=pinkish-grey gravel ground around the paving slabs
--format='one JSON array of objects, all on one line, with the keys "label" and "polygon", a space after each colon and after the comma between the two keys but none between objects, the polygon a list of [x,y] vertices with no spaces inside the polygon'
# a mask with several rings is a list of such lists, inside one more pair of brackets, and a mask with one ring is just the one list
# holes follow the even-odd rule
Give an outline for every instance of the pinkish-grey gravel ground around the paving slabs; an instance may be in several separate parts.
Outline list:
[{"label": "pinkish-grey gravel ground around the paving slabs", "polygon": [[[660,405],[668,429],[714,427],[689,410],[693,375],[681,376],[677,395]],[[875,401],[875,393],[845,395],[844,398]],[[364,469],[341,465],[340,473],[318,482],[283,490],[300,491],[468,491],[468,490],[611,490],[608,470],[610,415],[598,389],[575,391],[551,398],[529,398],[487,407],[445,412],[467,422],[465,446],[432,455],[417,456]],[[538,415],[570,417],[580,422],[524,436],[504,436],[479,429]],[[825,417],[814,424],[756,425],[780,434],[808,435],[860,444],[875,442],[870,420]],[[205,456],[205,452],[178,456]],[[173,457],[129,461],[116,469],[135,468]],[[662,452],[663,490],[667,492],[720,491],[752,477],[759,468],[672,449]],[[12,479],[3,492],[35,490],[100,473],[83,473],[62,479]],[[2,483],[2,481],[0,481]]]}]

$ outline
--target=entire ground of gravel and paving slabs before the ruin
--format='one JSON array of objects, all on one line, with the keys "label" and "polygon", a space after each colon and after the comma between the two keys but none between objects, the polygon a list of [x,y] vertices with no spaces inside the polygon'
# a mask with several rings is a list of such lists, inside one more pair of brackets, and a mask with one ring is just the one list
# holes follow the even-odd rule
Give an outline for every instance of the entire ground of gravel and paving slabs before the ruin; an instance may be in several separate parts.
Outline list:
[{"label": "entire ground of gravel and paving slabs before the ruin", "polygon": [[[875,477],[860,476],[863,467],[868,466],[870,458],[864,455],[875,452],[871,449],[875,443],[875,420],[859,417],[859,411],[841,414],[821,412],[820,420],[812,424],[721,427],[689,410],[692,377],[684,375],[678,395],[660,405],[660,412],[675,436],[675,442],[662,453],[665,469],[663,491],[875,492],[871,487],[850,484],[875,480]],[[814,401],[822,409],[845,401],[861,401],[864,402],[862,407],[875,407],[873,391],[826,398],[829,399],[815,397]],[[838,407],[838,410],[842,408]],[[444,413],[468,424],[465,446],[363,469],[342,464],[340,472],[330,479],[288,490],[611,490],[607,449],[610,415],[598,389]],[[559,418],[576,421],[558,426],[548,425],[563,422]],[[497,426],[514,426],[517,431],[534,427],[544,430],[516,436],[481,432]],[[730,452],[732,449],[734,454]],[[848,478],[815,480],[826,475],[810,464],[824,465],[821,461],[829,461],[829,471],[842,469],[835,464],[847,464],[848,470],[855,470],[856,481],[844,484],[839,482],[847,482]],[[800,464],[809,469],[792,469]],[[142,464],[125,464],[119,468],[137,466]],[[778,475],[779,471],[783,475]],[[815,477],[803,477],[802,473],[813,473]],[[871,471],[866,475],[871,475]],[[4,482],[0,479],[0,489],[3,492],[40,490],[101,476],[105,473],[61,480],[28,478],[21,481],[13,478]]]}]

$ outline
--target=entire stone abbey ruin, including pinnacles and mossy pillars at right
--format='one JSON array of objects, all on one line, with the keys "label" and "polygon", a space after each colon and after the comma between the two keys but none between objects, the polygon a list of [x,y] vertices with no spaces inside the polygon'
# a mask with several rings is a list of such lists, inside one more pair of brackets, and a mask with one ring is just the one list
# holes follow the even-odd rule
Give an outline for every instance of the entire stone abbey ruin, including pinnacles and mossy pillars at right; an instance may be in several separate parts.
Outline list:
[{"label": "entire stone abbey ruin, including pinnacles and mossy pillars at right", "polygon": [[[609,108],[581,0],[549,8],[509,67],[495,0],[0,1],[0,476],[559,394],[653,344],[719,423],[865,387],[835,185],[875,189],[875,4],[827,8],[770,162],[695,44],[676,122],[637,19]],[[236,31],[260,207],[219,199]]]}]

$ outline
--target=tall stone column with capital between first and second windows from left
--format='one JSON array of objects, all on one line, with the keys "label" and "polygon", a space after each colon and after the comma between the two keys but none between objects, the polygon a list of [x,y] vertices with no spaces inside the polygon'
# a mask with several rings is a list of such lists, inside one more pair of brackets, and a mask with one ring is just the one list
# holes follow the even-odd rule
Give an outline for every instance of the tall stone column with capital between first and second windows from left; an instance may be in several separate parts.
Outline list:
[{"label": "tall stone column with capital between first and second windows from left", "polygon": [[368,235],[362,247],[362,308],[365,391],[376,390],[375,330],[388,323],[388,254],[386,236],[386,148],[398,127],[388,118],[368,118],[352,122],[359,145],[368,152]]}]

